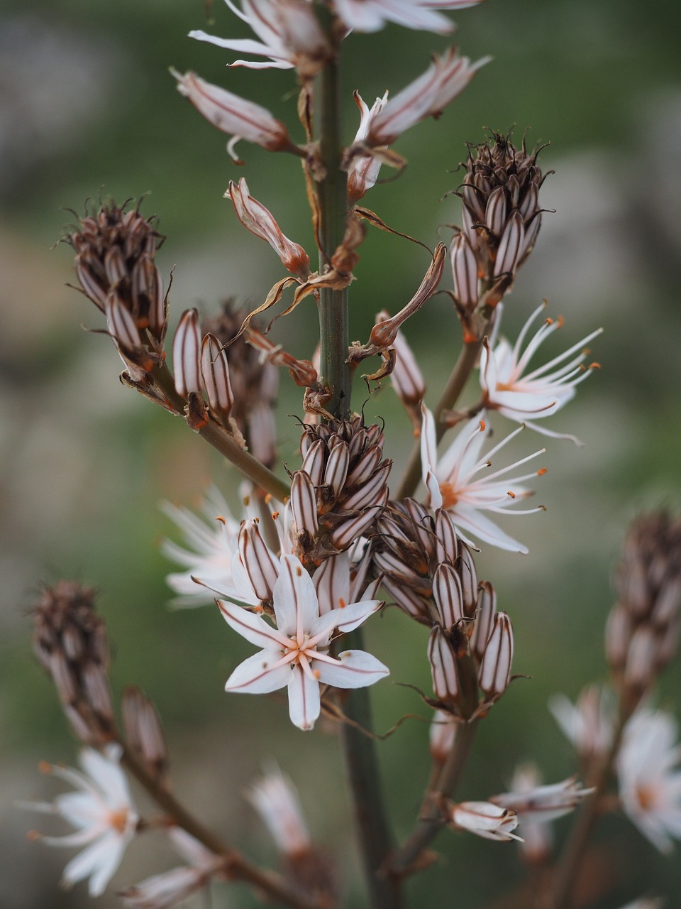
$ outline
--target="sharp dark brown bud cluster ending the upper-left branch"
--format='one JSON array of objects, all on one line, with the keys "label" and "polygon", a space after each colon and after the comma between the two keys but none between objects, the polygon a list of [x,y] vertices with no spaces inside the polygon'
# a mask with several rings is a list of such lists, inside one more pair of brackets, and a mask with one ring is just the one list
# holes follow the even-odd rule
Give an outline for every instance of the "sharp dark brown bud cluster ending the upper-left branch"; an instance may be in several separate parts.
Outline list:
[{"label": "sharp dark brown bud cluster ending the upper-left branch", "polygon": [[163,237],[139,208],[109,202],[80,221],[66,241],[81,289],[106,316],[109,334],[134,382],[163,359],[168,327],[163,280],[154,263]]}]

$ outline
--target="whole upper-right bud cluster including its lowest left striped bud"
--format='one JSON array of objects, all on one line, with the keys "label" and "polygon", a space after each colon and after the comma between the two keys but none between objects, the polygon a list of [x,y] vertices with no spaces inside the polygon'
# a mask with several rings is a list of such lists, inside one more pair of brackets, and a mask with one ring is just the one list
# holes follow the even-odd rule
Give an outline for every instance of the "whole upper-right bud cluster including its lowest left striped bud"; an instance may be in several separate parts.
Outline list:
[{"label": "whole upper-right bud cluster including its lowest left striped bud", "polygon": [[541,225],[538,191],[544,177],[538,150],[515,148],[508,136],[472,146],[457,195],[462,229],[450,248],[454,303],[463,324],[479,305],[494,306],[513,285]]}]

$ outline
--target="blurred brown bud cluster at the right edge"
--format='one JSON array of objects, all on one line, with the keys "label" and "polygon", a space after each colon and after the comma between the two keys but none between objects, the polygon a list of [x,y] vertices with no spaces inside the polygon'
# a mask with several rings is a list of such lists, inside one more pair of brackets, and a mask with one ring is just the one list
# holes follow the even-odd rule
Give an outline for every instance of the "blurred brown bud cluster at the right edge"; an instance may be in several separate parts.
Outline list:
[{"label": "blurred brown bud cluster at the right edge", "polygon": [[607,620],[607,660],[633,708],[676,653],[681,601],[681,521],[646,514],[632,524]]}]

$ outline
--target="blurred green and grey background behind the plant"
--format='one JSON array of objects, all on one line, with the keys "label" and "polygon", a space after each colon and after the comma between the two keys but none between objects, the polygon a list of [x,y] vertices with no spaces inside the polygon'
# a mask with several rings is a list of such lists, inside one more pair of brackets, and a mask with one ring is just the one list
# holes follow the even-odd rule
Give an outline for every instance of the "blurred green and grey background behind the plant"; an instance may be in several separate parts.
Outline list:
[{"label": "blurred green and grey background behind the plant", "polygon": [[[681,276],[681,10],[673,0],[489,0],[457,16],[464,53],[493,62],[439,122],[423,123],[396,148],[409,166],[365,200],[396,229],[432,245],[456,222],[448,190],[467,141],[486,128],[516,125],[518,139],[550,141],[541,155],[548,178],[538,245],[509,298],[505,327],[514,336],[542,297],[564,315],[564,349],[602,325],[594,345],[603,369],[582,385],[577,402],[554,419],[586,443],[548,443],[549,472],[538,500],[546,514],[506,526],[528,556],[489,551],[480,575],[496,585],[516,628],[514,684],[483,724],[461,786],[469,798],[503,791],[518,761],[536,760],[548,780],[575,769],[548,714],[549,694],[571,697],[605,677],[602,626],[612,600],[610,576],[627,521],[638,510],[678,509],[681,412],[678,386],[678,282]],[[208,22],[207,22],[208,20]],[[225,137],[202,121],[173,88],[168,66],[269,106],[295,122],[293,77],[228,71],[231,56],[188,40],[192,28],[246,35],[219,0],[4,0],[0,6],[0,906],[79,907],[84,885],[56,888],[65,855],[28,844],[40,817],[16,799],[50,797],[54,781],[40,759],[73,764],[74,742],[56,697],[30,653],[28,611],[41,583],[76,578],[101,590],[100,608],[114,642],[114,691],[143,687],[158,704],[172,748],[179,794],[209,824],[262,861],[271,845],[242,794],[275,757],[299,785],[311,829],[339,855],[348,905],[360,906],[358,858],[346,835],[350,809],[330,730],[302,734],[283,699],[228,696],[222,686],[246,654],[215,609],[171,612],[158,543],[172,527],[158,510],[170,499],[197,504],[214,480],[226,493],[234,475],[180,421],[155,412],[117,381],[120,363],[101,335],[99,314],[65,284],[70,250],[56,241],[86,198],[144,200],[168,239],[159,255],[175,266],[173,314],[196,305],[216,312],[223,297],[259,304],[279,275],[278,261],[237,224],[222,198],[245,175],[283,230],[311,247],[297,163],[243,144],[235,167]],[[351,90],[365,99],[394,93],[425,68],[446,39],[389,26],[347,42],[347,138],[357,115]],[[389,235],[369,235],[352,287],[352,336],[364,338],[383,306],[403,305],[419,285],[427,255]],[[278,339],[308,356],[314,344],[311,303],[281,324]],[[450,305],[436,298],[412,320],[429,403],[459,345]],[[554,349],[558,352],[561,347]],[[360,403],[361,389],[357,392]],[[295,466],[295,418],[301,403],[283,381],[281,459]],[[396,474],[410,448],[410,425],[390,393],[367,405],[386,420]],[[500,426],[500,422],[499,422]],[[533,440],[523,440],[523,445]],[[541,440],[539,440],[541,441]],[[525,449],[527,450],[527,449]],[[175,534],[177,536],[177,534]],[[429,688],[425,637],[396,611],[374,621],[369,648],[392,668],[391,682]],[[678,667],[667,671],[659,701],[678,709]],[[384,682],[374,690],[380,730],[407,712],[422,713],[417,694]],[[257,711],[256,708],[257,707]],[[426,724],[411,721],[380,744],[394,822],[405,834],[428,768]],[[51,785],[53,784],[53,785]],[[557,836],[565,834],[558,824]],[[601,824],[620,883],[594,909],[615,909],[647,892],[681,899],[681,863],[653,848],[623,818]],[[513,844],[443,835],[444,858],[410,885],[413,904],[478,907],[522,877]],[[119,904],[116,887],[176,864],[149,836],[129,850],[103,907]],[[216,889],[214,907],[254,905],[242,887]],[[190,905],[190,904],[188,904]],[[203,905],[200,901],[191,905]]]}]

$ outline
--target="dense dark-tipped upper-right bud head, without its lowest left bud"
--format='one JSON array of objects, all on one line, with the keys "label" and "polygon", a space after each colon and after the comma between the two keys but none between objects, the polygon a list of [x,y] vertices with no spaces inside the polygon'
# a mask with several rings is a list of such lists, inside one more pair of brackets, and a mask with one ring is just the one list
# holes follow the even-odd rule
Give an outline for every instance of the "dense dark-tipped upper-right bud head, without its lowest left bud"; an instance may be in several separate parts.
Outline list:
[{"label": "dense dark-tipped upper-right bud head, without its lowest left bud", "polygon": [[488,282],[507,277],[510,286],[527,259],[541,224],[539,187],[544,175],[531,154],[512,145],[509,135],[494,133],[493,142],[469,146],[466,176],[457,195],[463,201],[463,230]]}]

